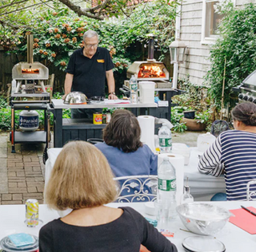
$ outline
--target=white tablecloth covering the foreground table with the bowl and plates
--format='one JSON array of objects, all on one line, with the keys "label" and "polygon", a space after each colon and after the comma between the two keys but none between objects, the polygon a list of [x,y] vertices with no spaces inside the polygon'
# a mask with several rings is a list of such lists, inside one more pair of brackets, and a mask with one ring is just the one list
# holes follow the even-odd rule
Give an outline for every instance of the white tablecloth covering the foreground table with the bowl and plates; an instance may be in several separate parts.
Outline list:
[{"label": "white tablecloth covering the foreground table with the bowl and plates", "polygon": [[[215,202],[220,207],[225,207],[228,210],[238,209],[242,204],[245,207],[256,207],[256,202]],[[145,217],[155,219],[154,216],[145,215],[144,203],[110,203],[110,207],[133,207],[136,211],[140,212]],[[0,206],[0,239],[6,235],[26,232],[28,234],[38,235],[38,232],[42,225],[37,227],[27,227],[24,223],[25,219],[25,206],[24,205],[2,205]],[[50,222],[53,219],[58,219],[57,211],[51,211],[46,205],[39,206],[39,219],[42,219],[44,224]],[[183,226],[180,219],[177,219],[172,223],[170,230],[174,232],[174,238],[170,238],[177,247],[178,251],[185,251],[182,247],[182,241],[192,234],[183,230],[186,227]],[[226,226],[215,235],[218,240],[224,243],[227,252],[255,252],[256,248],[256,236],[247,233],[246,231],[234,226],[232,223],[227,222]]]}]

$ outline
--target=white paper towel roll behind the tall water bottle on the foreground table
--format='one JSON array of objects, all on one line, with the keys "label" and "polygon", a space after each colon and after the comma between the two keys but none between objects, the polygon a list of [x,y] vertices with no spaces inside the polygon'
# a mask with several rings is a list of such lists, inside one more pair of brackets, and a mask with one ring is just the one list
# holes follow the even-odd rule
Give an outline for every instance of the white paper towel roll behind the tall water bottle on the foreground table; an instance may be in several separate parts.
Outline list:
[{"label": "white paper towel roll behind the tall water bottle on the foreground table", "polygon": [[184,161],[185,158],[182,155],[174,153],[162,153],[158,155],[158,168],[161,165],[163,158],[167,156],[170,163],[174,166],[176,171],[176,202],[177,206],[180,204],[181,196],[183,194],[184,185]]}]

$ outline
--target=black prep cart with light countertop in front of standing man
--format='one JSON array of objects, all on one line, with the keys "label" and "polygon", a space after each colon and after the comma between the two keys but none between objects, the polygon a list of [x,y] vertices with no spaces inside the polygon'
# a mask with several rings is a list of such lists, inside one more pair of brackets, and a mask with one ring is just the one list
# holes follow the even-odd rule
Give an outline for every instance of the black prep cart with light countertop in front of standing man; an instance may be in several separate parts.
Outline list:
[{"label": "black prep cart with light countertop in front of standing man", "polygon": [[[63,104],[63,100],[52,100],[47,104],[48,110],[54,114],[54,148],[62,148],[70,140],[88,140],[102,138],[102,128],[106,124],[92,124],[86,119],[62,119],[65,108],[127,108],[136,116],[150,115],[158,104]],[[166,111],[168,107],[165,108]]]}]

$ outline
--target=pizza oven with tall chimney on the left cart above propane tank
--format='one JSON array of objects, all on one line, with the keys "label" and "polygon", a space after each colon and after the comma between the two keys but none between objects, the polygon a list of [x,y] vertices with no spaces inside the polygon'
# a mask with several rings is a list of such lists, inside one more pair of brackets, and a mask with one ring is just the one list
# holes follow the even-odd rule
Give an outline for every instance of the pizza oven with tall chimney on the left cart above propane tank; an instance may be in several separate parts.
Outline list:
[{"label": "pizza oven with tall chimney on the left cart above propane tank", "polygon": [[14,65],[12,78],[12,97],[30,97],[30,101],[41,97],[49,101],[50,94],[46,93],[44,85],[49,78],[49,70],[40,62],[34,62],[33,35],[27,36],[27,62]]}]

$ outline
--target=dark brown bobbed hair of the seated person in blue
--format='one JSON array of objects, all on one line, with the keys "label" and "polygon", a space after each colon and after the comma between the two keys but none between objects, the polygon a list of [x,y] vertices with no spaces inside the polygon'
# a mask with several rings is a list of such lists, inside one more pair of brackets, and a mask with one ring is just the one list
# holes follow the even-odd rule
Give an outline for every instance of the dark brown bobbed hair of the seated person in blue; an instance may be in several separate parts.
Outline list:
[{"label": "dark brown bobbed hair of the seated person in blue", "polygon": [[103,129],[103,140],[107,145],[122,152],[136,152],[142,147],[141,128],[134,114],[126,109],[114,111],[110,123]]}]

